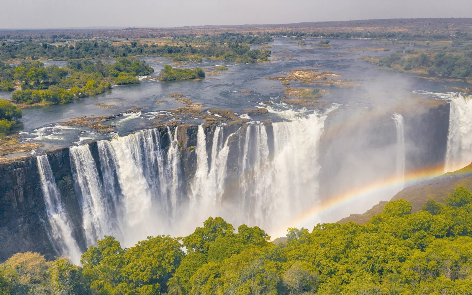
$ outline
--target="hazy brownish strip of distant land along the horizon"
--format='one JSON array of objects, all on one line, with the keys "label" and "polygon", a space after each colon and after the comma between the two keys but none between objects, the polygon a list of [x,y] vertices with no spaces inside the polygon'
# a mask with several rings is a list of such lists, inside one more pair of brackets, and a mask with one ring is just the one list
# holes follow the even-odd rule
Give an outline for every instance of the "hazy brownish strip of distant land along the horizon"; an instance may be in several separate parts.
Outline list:
[{"label": "hazy brownish strip of distant land along the horizon", "polygon": [[472,18],[393,18],[363,19],[330,22],[303,22],[295,24],[246,24],[246,25],[193,25],[184,27],[88,27],[54,29],[0,29],[0,36],[22,39],[26,37],[51,38],[54,35],[68,35],[73,38],[150,38],[172,37],[184,34],[219,33],[275,33],[275,32],[408,32],[429,36],[430,34],[454,35],[456,32],[470,32]]}]

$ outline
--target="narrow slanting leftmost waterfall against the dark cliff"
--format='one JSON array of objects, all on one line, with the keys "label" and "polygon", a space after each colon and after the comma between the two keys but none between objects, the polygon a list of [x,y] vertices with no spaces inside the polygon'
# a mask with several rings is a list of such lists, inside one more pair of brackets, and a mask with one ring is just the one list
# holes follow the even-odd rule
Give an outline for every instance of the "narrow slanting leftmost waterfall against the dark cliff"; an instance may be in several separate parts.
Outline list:
[{"label": "narrow slanting leftmost waterfall against the dark cliff", "polygon": [[50,224],[48,236],[59,255],[69,256],[74,263],[80,262],[82,255],[76,239],[72,234],[71,222],[59,194],[59,189],[52,175],[48,156],[36,157],[38,162],[41,189]]}]

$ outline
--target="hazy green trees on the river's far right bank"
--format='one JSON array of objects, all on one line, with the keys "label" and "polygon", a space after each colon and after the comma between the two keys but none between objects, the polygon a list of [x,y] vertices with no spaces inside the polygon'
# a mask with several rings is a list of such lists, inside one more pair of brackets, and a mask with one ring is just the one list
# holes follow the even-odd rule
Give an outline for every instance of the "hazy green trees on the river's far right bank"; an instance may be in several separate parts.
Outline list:
[{"label": "hazy green trees on the river's far right bank", "polygon": [[366,58],[366,60],[380,67],[405,71],[421,69],[430,75],[443,77],[466,79],[472,76],[472,50],[459,54],[446,53],[445,51],[426,54],[416,50],[406,50],[405,52],[392,53],[390,56],[380,59]]}]

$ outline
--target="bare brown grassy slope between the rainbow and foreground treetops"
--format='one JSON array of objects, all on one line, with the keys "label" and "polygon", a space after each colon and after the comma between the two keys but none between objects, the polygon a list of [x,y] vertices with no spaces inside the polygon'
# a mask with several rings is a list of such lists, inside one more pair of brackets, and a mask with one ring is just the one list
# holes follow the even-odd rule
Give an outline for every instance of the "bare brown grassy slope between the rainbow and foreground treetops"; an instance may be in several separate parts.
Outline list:
[{"label": "bare brown grassy slope between the rainbow and foreground treetops", "polygon": [[[472,163],[455,172],[448,172],[417,185],[408,186],[393,196],[390,201],[405,199],[412,204],[412,212],[417,212],[430,199],[444,203],[447,196],[460,186],[467,188],[469,191],[472,190]],[[363,214],[351,214],[349,217],[337,221],[337,223],[353,221],[365,224],[372,216],[380,214],[387,203],[382,201]]]}]

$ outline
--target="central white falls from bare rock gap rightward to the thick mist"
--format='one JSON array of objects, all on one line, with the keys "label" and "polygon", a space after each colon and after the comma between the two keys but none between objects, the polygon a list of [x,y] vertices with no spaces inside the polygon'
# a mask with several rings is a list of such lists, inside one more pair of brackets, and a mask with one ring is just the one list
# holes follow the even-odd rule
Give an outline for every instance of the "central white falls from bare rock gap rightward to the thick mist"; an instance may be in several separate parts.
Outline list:
[{"label": "central white falls from bare rock gap rightward to the thick mist", "polygon": [[[207,141],[202,126],[199,127],[197,172],[191,195],[197,212],[192,218],[221,214],[235,224],[258,225],[271,231],[319,202],[318,149],[326,115],[287,119],[290,121],[272,124],[273,153],[266,126],[248,125],[242,129],[244,132],[236,132],[237,179],[227,179],[228,142],[232,135],[225,139],[223,128],[215,129],[209,167]],[[232,200],[224,200],[223,196]],[[237,206],[225,205],[225,201]]]}]

